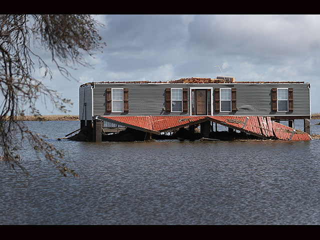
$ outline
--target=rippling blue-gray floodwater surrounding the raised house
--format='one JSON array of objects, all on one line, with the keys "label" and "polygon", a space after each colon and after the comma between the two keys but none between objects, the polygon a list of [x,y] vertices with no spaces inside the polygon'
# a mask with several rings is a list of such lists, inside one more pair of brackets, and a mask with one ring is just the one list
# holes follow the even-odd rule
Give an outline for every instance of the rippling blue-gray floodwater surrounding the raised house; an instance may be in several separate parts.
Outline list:
[{"label": "rippling blue-gray floodwater surrounding the raised house", "polygon": [[320,224],[320,139],[76,142],[57,138],[78,121],[26,123],[80,176],[23,145],[28,180],[0,162],[0,224]]}]

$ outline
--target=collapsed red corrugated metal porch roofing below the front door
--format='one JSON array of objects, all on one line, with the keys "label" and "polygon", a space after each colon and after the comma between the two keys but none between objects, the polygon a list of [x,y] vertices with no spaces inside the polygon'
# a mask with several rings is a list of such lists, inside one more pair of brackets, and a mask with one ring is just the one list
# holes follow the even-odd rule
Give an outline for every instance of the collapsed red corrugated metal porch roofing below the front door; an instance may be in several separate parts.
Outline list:
[{"label": "collapsed red corrugated metal porch roofing below the front door", "polygon": [[281,140],[311,140],[309,134],[271,121],[265,116],[99,116],[101,120],[122,124],[142,131],[158,134],[182,126],[207,120],[263,138]]}]

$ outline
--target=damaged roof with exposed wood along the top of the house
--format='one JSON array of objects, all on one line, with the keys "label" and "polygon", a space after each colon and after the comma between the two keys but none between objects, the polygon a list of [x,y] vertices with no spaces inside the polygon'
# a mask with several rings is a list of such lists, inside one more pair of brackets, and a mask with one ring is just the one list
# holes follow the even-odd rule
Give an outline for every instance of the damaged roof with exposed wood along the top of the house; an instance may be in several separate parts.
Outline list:
[{"label": "damaged roof with exposed wood along the top of the house", "polygon": [[167,81],[100,81],[100,82],[87,82],[81,84],[80,86],[90,85],[90,84],[144,84],[144,83],[304,83],[304,81],[235,81],[234,76],[217,76],[216,78],[204,78],[204,77],[187,77],[175,80]]}]

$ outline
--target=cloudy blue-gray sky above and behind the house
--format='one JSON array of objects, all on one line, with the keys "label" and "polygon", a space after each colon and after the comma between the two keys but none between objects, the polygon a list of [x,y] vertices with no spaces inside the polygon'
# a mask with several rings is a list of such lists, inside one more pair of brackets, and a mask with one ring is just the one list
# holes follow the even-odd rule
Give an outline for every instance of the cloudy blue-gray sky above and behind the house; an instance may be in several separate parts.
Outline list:
[{"label": "cloudy blue-gray sky above and behind the house", "polygon": [[[311,112],[320,112],[320,15],[95,15],[107,46],[87,60],[94,68],[54,71],[46,84],[70,98],[91,81],[165,81],[235,76],[237,81],[311,83]],[[59,114],[39,105],[42,114]]]}]

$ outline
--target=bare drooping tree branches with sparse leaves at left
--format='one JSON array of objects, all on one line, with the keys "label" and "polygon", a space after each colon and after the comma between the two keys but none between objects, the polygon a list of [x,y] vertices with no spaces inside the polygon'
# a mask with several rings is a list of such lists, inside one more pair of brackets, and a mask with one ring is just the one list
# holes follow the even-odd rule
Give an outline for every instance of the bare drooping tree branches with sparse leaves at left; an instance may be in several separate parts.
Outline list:
[{"label": "bare drooping tree branches with sparse leaves at left", "polygon": [[77,175],[61,162],[61,151],[30,131],[23,121],[18,121],[14,116],[23,115],[26,109],[32,115],[39,116],[35,105],[39,98],[43,99],[44,104],[51,102],[63,113],[68,111],[66,106],[72,104],[69,99],[61,97],[44,85],[41,79],[33,77],[36,68],[34,59],[38,67],[44,69],[43,77],[52,79],[52,72],[32,46],[50,52],[57,69],[70,79],[72,76],[66,67],[76,64],[89,66],[83,56],[92,55],[104,45],[97,31],[98,26],[102,24],[90,15],[0,15],[0,92],[3,95],[0,104],[0,145],[2,160],[13,168],[19,166],[27,173],[20,164],[14,144],[19,132],[22,138],[28,139],[30,147],[42,152],[43,157],[54,163],[63,175]]}]

